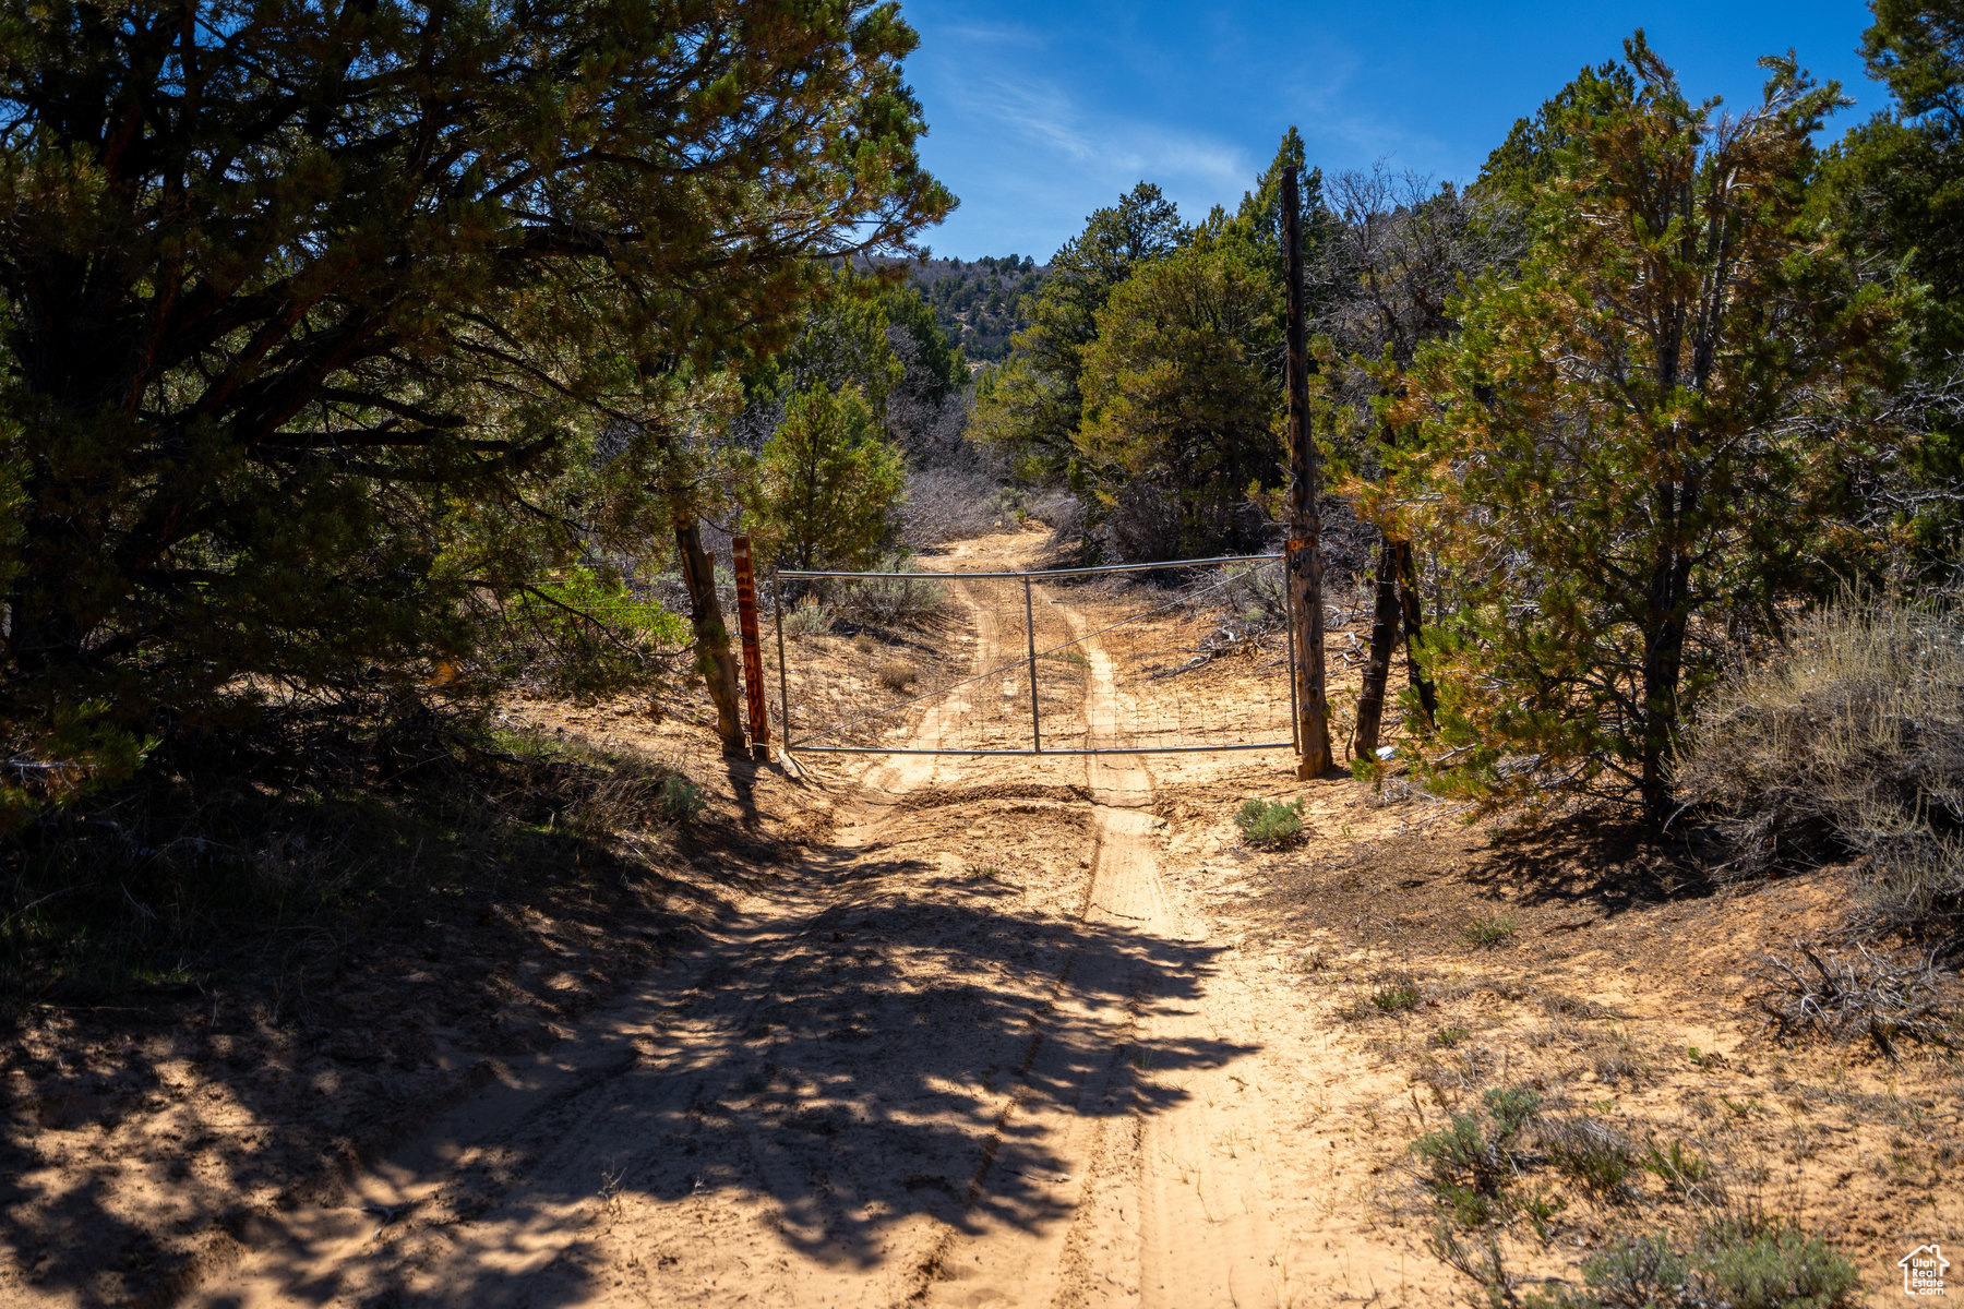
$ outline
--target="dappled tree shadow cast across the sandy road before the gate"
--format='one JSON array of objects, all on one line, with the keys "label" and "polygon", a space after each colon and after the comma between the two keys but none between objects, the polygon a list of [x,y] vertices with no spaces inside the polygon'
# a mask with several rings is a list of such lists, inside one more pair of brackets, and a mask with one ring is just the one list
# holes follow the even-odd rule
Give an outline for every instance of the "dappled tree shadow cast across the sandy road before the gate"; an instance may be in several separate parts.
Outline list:
[{"label": "dappled tree shadow cast across the sandy road before the gate", "polygon": [[[1055,1183],[1076,1168],[1047,1117],[1163,1113],[1186,1073],[1249,1050],[1131,1036],[1131,1015],[1196,1001],[1216,948],[1029,913],[1008,887],[892,852],[799,875],[833,881],[837,903],[729,936],[687,993],[617,1011],[599,1040],[627,1052],[652,1030],[652,1046],[593,1056],[603,1075],[540,1095],[491,1162],[444,1176],[428,1225],[359,1262],[295,1262],[289,1295],[581,1303],[615,1203],[762,1201],[778,1252],[833,1274],[892,1258],[923,1217],[1035,1230],[1066,1217]],[[556,1254],[518,1272],[526,1244]]]}]

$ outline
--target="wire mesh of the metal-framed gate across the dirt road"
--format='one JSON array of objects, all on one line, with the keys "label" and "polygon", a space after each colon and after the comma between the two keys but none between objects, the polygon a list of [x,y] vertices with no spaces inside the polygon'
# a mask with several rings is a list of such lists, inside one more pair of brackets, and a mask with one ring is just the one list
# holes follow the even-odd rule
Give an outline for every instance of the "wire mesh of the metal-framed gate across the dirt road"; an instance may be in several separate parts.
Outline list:
[{"label": "wire mesh of the metal-framed gate across the dirt road", "polygon": [[778,573],[791,750],[1292,746],[1282,555],[992,573]]}]

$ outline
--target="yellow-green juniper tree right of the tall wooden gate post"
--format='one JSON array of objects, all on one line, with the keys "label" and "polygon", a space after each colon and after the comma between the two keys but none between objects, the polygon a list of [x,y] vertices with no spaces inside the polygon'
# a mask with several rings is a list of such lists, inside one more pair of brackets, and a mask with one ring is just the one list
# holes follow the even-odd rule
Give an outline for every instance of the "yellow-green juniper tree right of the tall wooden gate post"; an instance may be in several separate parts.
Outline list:
[{"label": "yellow-green juniper tree right of the tall wooden gate post", "polygon": [[1860,546],[1836,526],[1887,440],[1901,304],[1801,222],[1832,84],[1772,59],[1726,120],[1642,33],[1626,55],[1636,94],[1557,124],[1520,275],[1483,277],[1418,351],[1389,518],[1461,601],[1428,655],[1447,781],[1632,785],[1662,818],[1722,638],[1777,630]]}]

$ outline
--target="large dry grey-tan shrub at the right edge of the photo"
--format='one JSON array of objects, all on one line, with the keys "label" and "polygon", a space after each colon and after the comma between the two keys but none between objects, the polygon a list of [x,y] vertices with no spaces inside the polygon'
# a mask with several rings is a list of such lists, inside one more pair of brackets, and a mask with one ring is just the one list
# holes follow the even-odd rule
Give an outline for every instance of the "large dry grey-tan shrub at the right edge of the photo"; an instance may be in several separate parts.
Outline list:
[{"label": "large dry grey-tan shrub at the right edge of the photo", "polygon": [[1954,930],[1964,907],[1964,618],[1844,599],[1732,677],[1693,724],[1677,787],[1740,875],[1854,854],[1882,926]]}]

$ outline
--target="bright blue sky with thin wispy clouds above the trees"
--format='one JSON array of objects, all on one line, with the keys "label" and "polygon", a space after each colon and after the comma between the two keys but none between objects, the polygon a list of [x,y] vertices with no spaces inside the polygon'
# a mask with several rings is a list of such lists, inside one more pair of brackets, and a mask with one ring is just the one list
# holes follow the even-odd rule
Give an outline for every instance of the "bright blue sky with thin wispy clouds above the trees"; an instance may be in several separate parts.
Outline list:
[{"label": "bright blue sky with thin wispy clouds above the trees", "polygon": [[[1294,124],[1326,173],[1471,179],[1508,126],[1644,27],[1693,98],[1744,106],[1756,59],[1789,47],[1860,102],[1885,104],[1854,53],[1860,0],[1640,4],[1155,4],[903,0],[921,47],[927,167],[962,206],[937,255],[1039,261],[1145,179],[1188,218],[1235,204]],[[1838,131],[1836,128],[1836,131]]]}]

